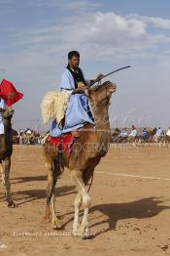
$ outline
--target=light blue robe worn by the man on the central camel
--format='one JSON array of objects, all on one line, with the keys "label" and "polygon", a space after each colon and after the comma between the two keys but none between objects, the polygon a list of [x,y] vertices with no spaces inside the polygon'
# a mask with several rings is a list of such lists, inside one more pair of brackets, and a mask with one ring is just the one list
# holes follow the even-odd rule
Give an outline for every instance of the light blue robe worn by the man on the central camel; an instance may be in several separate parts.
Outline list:
[{"label": "light blue robe worn by the man on the central camel", "polygon": [[[59,88],[60,91],[69,90],[70,93],[75,89],[74,78],[67,68],[61,77]],[[56,120],[53,120],[50,134],[52,137],[58,137],[61,134],[83,127],[85,123],[94,125],[92,109],[88,97],[85,94],[74,94],[70,96],[65,113],[64,128],[60,130]]]}]

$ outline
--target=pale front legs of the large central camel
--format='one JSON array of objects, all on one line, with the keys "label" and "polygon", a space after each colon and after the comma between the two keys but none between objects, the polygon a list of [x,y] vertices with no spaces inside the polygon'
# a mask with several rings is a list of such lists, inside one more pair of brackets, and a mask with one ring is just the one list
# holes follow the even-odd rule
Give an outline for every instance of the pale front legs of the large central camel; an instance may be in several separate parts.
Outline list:
[{"label": "pale front legs of the large central camel", "polygon": [[82,196],[82,202],[84,205],[84,216],[83,216],[81,226],[77,229],[77,231],[75,230],[76,224],[78,225],[78,221],[75,219],[74,226],[73,226],[73,235],[81,235],[84,238],[88,238],[90,236],[90,234],[89,234],[89,229],[88,229],[87,216],[88,216],[88,210],[90,207],[91,198],[88,195],[88,193],[86,192],[85,183],[83,180],[83,173],[78,170],[73,170],[71,172],[71,176],[72,176],[73,181],[76,182],[77,187],[78,187],[78,192],[79,192],[78,196],[77,196],[78,205],[75,207],[75,209],[77,211],[75,213],[76,218],[78,218],[77,214],[79,214],[78,208],[80,207],[81,196]]}]

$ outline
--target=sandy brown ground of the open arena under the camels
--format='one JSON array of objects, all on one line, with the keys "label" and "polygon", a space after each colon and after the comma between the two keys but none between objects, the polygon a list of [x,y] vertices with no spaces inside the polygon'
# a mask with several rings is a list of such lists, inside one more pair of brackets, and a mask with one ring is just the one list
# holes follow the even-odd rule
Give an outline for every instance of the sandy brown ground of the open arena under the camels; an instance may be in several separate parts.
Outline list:
[{"label": "sandy brown ground of the open arena under the camels", "polygon": [[15,146],[7,207],[0,185],[0,255],[170,255],[170,149],[112,145],[96,168],[89,225],[95,236],[71,235],[75,186],[65,172],[57,182],[63,224],[44,220],[47,176],[41,147]]}]

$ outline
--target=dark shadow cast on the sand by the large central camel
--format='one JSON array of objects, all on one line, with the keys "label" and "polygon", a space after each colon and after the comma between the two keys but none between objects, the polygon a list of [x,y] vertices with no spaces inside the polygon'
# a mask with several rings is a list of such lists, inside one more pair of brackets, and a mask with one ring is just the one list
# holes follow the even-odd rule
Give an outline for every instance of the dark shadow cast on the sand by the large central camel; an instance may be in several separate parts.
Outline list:
[{"label": "dark shadow cast on the sand by the large central camel", "polygon": [[[109,204],[99,204],[94,205],[89,210],[89,220],[90,214],[99,212],[101,213],[97,217],[92,217],[91,219],[95,224],[90,225],[92,227],[100,226],[103,223],[108,223],[108,228],[106,230],[101,230],[95,234],[100,235],[111,230],[116,230],[117,222],[124,219],[145,219],[152,218],[158,215],[163,210],[170,209],[170,206],[162,205],[163,197],[149,197],[143,198],[132,202],[126,203],[109,203]],[[69,214],[74,214],[74,212],[69,212]],[[81,211],[81,216],[83,216],[83,211]],[[98,222],[97,219],[101,219],[103,216],[103,221]],[[108,219],[106,220],[106,216]],[[64,228],[69,222],[73,221],[73,217],[70,218],[62,228]],[[92,232],[92,229],[91,229]]]}]

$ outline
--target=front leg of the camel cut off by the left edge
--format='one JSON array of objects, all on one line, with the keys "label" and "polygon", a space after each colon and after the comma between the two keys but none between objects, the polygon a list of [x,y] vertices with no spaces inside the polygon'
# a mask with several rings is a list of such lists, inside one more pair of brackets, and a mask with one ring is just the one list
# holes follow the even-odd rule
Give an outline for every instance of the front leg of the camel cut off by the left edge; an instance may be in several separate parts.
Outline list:
[{"label": "front leg of the camel cut off by the left edge", "polygon": [[16,207],[17,205],[12,199],[11,194],[11,183],[10,183],[10,168],[11,168],[11,157],[7,157],[3,161],[3,172],[4,172],[4,186],[7,191],[7,199],[9,207]]}]

